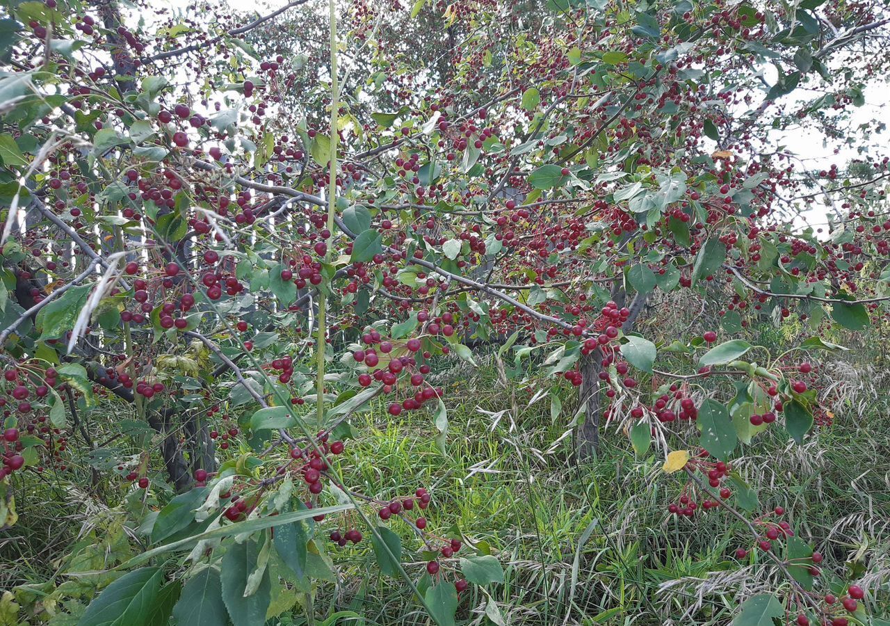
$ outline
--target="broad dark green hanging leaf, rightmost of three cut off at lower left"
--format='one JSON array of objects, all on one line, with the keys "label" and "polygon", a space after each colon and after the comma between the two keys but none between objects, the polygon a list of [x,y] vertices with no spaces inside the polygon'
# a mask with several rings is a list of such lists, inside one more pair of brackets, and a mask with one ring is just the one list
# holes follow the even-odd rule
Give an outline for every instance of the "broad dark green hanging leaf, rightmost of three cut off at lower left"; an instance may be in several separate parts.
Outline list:
[{"label": "broad dark green hanging leaf, rightmost of three cut off at lower left", "polygon": [[254,593],[245,598],[247,578],[254,573],[260,544],[253,540],[232,543],[223,557],[222,574],[223,602],[229,610],[234,626],[256,626],[266,620],[266,609],[271,603],[271,582],[269,569],[263,571],[263,578]]}]

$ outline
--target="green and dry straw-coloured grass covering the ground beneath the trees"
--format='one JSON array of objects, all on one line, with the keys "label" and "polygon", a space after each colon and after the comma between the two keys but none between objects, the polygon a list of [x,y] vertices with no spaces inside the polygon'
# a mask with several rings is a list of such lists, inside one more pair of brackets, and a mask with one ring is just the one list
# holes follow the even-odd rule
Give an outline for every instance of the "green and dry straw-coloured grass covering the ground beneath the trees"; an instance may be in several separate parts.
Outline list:
[{"label": "green and dry straw-coloured grass covering the ground beneath the trees", "polygon": [[[842,358],[825,367],[833,377],[827,384],[840,390],[832,401],[833,426],[818,429],[803,447],[789,445],[781,428],[773,428],[744,448],[734,465],[756,486],[764,508],[786,508],[797,533],[825,555],[823,577],[846,580],[854,571],[870,591],[871,613],[886,616],[888,381],[873,354],[857,350]],[[557,412],[549,397],[530,402],[530,389],[541,381],[505,386],[493,360],[482,361],[477,369],[458,365],[436,382],[448,392],[444,452],[425,411],[399,419],[371,411],[353,423],[360,437],[343,459],[344,475],[356,491],[392,498],[418,486],[430,489],[428,527],[439,532],[457,527],[504,565],[505,582],[493,586],[490,596],[471,586],[458,622],[491,623],[488,610],[510,624],[716,626],[729,623],[750,595],[789,589],[780,573],[756,557],[742,563],[732,557],[750,541],[731,516],[712,513],[688,521],[667,515],[682,482],[660,471],[663,451],[636,458],[627,437],[611,428],[598,458],[575,464],[574,390],[568,385],[549,390],[561,399]],[[88,517],[82,504],[71,506],[88,497],[69,492],[52,475],[29,482],[18,497],[20,523],[0,538],[0,588],[53,576]],[[417,580],[425,566],[422,545],[404,524],[390,527],[401,533],[405,567]],[[338,576],[321,583],[319,610],[356,611],[368,624],[429,623],[407,585],[379,573],[369,542],[331,552]],[[446,562],[443,571],[456,565],[457,559]],[[277,622],[303,623],[301,615],[294,610]]]}]

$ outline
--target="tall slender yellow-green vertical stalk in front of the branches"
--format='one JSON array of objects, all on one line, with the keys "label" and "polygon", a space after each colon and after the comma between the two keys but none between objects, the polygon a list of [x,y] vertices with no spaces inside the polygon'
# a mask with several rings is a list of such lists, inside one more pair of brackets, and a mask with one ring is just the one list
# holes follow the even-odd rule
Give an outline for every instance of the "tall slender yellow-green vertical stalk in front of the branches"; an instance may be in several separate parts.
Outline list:
[{"label": "tall slender yellow-green vertical stalk in front of the branches", "polygon": [[[330,31],[331,31],[331,134],[330,134],[330,174],[328,175],[328,232],[334,232],[334,211],[336,210],[336,148],[339,135],[337,134],[337,109],[338,104],[338,86],[336,79],[336,6],[334,0],[328,0],[330,9]],[[325,263],[330,261],[331,256],[331,238],[328,237],[328,251],[325,253]],[[319,291],[319,314],[318,314],[318,338],[316,340],[316,350],[318,353],[318,372],[315,381],[315,397],[316,397],[316,420],[319,429],[324,426],[324,408],[325,408],[325,346],[327,344],[327,320],[326,314],[328,309],[328,296],[324,289]]]}]

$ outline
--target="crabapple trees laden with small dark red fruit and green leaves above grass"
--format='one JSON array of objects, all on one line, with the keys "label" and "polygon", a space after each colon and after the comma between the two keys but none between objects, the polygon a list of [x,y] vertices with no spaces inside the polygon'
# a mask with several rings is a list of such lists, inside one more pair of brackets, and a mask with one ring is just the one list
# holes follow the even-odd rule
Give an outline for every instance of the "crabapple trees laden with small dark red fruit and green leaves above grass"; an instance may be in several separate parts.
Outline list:
[{"label": "crabapple trees laden with small dark red fruit and green leaves above grass", "polygon": [[[667,459],[666,514],[747,520],[740,541],[787,586],[738,624],[869,623],[866,591],[760,510],[732,459],[824,418],[813,368],[840,348],[823,329],[886,323],[887,157],[809,172],[774,141],[845,134],[887,70],[883,5],[4,9],[0,529],[28,515],[15,484],[47,473],[98,499],[114,476],[158,508],[126,508],[148,548],[42,590],[104,588],[80,623],[262,623],[285,585],[312,622],[328,549],[366,538],[454,623],[466,589],[503,581],[498,558],[427,524],[429,485],[353,488],[350,421],[425,411],[445,449],[436,374],[490,352],[507,379],[578,387],[576,462],[614,424]],[[828,239],[793,220],[825,197]],[[722,328],[635,330],[676,294]],[[733,338],[790,316],[812,329],[797,350]],[[142,451],[116,454],[109,429]]]}]

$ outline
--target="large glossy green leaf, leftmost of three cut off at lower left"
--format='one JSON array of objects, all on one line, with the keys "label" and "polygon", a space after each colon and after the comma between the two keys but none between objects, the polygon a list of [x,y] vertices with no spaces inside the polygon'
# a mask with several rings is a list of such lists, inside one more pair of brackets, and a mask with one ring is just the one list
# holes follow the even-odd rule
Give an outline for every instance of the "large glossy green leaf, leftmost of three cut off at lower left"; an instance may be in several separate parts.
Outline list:
[{"label": "large glossy green leaf, leftmost of three cut off at lower left", "polygon": [[125,573],[93,599],[77,626],[145,624],[163,580],[164,570],[160,567],[143,567]]}]

